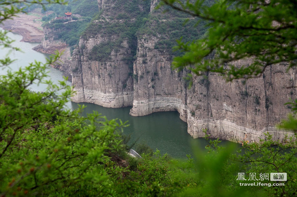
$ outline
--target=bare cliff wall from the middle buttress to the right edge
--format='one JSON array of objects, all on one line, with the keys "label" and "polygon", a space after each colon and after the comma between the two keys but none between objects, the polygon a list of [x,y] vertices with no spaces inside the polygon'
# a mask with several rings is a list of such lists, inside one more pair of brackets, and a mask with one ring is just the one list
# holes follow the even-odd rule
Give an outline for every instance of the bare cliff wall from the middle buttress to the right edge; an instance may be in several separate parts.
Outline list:
[{"label": "bare cliff wall from the middle buttress to the right edge", "polygon": [[153,36],[138,40],[132,116],[179,111],[194,138],[203,137],[205,128],[212,137],[233,141],[258,141],[259,137],[266,137],[267,131],[274,140],[293,134],[277,131],[274,126],[290,113],[284,103],[296,95],[295,88],[288,88],[296,87],[295,69],[286,73],[286,65],[274,65],[259,78],[229,83],[222,76],[206,73],[193,76],[193,85],[188,89],[186,71],[171,70],[170,53],[154,49],[158,41]]}]

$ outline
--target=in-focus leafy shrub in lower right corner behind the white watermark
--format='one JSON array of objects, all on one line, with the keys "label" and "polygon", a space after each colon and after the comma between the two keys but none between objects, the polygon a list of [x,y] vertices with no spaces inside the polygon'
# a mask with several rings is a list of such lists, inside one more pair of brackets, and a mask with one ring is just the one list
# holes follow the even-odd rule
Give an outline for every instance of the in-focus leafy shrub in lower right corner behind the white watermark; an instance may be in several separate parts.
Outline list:
[{"label": "in-focus leafy shrub in lower right corner behind the white watermark", "polygon": [[[244,143],[240,152],[234,160],[240,161],[242,171],[247,174],[270,172],[286,172],[287,181],[275,183],[285,183],[285,186],[256,187],[253,190],[265,192],[266,196],[295,196],[297,194],[297,173],[295,165],[297,163],[297,141],[294,137],[286,138],[282,142],[273,141],[272,135],[267,135],[265,140],[259,143]],[[259,177],[257,177],[259,179]],[[253,181],[245,181],[253,182]],[[259,180],[261,182],[261,180]],[[262,181],[265,182],[265,181]],[[266,181],[269,182],[269,181]],[[270,182],[271,184],[273,182]]]}]

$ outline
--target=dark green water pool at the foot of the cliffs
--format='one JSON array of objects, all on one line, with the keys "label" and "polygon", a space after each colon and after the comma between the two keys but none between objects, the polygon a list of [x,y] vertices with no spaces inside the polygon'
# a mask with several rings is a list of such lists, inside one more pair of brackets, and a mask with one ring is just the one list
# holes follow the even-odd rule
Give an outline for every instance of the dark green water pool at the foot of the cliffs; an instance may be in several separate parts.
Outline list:
[{"label": "dark green water pool at the foot of the cliffs", "polygon": [[[193,155],[191,145],[196,144],[204,148],[207,144],[204,139],[193,139],[187,133],[187,123],[180,120],[177,111],[166,111],[149,114],[147,116],[130,116],[130,107],[106,108],[91,103],[80,103],[86,105],[84,114],[98,111],[108,119],[119,118],[128,121],[130,126],[124,128],[125,135],[131,135],[130,144],[135,140],[145,143],[153,150],[168,153],[175,158],[186,158],[186,154]],[[71,102],[72,108],[77,104]],[[83,114],[83,115],[84,115]],[[139,139],[138,139],[139,138]]]}]

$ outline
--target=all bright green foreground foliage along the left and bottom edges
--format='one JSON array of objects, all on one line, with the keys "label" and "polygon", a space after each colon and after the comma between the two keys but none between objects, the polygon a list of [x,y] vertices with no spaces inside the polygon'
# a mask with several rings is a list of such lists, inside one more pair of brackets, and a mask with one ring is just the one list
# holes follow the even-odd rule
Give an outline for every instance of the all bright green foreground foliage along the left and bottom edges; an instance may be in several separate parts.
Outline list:
[{"label": "all bright green foreground foliage along the left and bottom edges", "polygon": [[[11,6],[3,11],[6,17],[22,12]],[[6,34],[0,34],[0,46],[11,48]],[[278,142],[266,135],[260,143],[242,141],[236,151],[206,135],[210,145],[205,151],[194,147],[196,160],[189,155],[186,161],[174,160],[159,151],[143,154],[141,159],[129,157],[120,136],[128,125],[96,112],[81,117],[83,106],[65,110],[74,93],[71,87],[65,81],[55,85],[44,79],[46,66],[58,57],[0,76],[0,196],[296,196],[294,137]],[[11,62],[10,58],[1,60],[0,67]],[[44,92],[28,90],[39,82],[48,84]],[[60,89],[64,93],[56,96]],[[295,120],[297,103],[289,105]],[[283,126],[296,131],[296,124]],[[288,180],[253,180],[253,173],[259,179],[261,173],[271,172],[286,172]],[[237,180],[238,173],[245,173],[247,180]],[[254,182],[284,186],[239,185]]]}]

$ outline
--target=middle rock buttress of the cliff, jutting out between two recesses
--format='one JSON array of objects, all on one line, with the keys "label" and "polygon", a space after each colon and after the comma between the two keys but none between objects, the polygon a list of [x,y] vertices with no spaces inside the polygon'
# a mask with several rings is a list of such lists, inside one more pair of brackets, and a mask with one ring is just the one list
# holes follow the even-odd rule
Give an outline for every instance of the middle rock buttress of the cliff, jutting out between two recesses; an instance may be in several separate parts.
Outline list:
[{"label": "middle rock buttress of the cliff, jutting out between two recesses", "polygon": [[144,116],[157,111],[179,111],[186,121],[186,87],[183,72],[171,69],[172,55],[154,49],[157,37],[138,40],[137,60],[133,65],[134,100],[132,116]]}]

